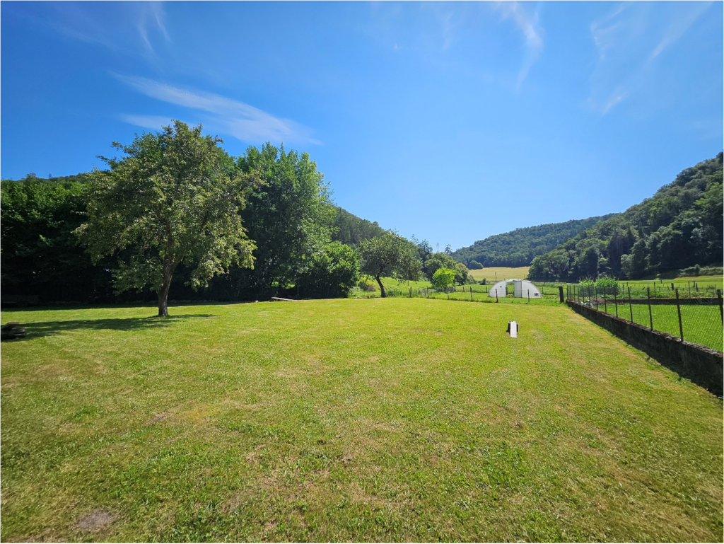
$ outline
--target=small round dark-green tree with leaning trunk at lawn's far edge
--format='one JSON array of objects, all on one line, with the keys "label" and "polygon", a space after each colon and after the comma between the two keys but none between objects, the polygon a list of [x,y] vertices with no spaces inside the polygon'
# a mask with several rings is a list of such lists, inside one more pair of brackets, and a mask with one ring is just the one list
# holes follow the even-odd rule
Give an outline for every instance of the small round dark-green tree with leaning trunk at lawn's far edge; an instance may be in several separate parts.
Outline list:
[{"label": "small round dark-green tree with leaning trunk at lawn's far edge", "polygon": [[382,285],[382,277],[416,280],[421,275],[422,264],[416,246],[395,233],[388,232],[377,238],[363,240],[360,256],[362,272],[374,277],[383,297],[387,293]]}]

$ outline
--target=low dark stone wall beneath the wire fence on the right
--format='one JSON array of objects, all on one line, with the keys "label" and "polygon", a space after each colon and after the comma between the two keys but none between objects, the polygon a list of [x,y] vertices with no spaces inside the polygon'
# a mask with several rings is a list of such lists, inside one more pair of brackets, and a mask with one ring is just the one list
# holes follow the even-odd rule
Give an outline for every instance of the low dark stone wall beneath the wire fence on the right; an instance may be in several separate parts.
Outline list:
[{"label": "low dark stone wall beneath the wire fence on the right", "polygon": [[568,306],[697,385],[724,396],[724,353],[631,323],[584,304]]}]

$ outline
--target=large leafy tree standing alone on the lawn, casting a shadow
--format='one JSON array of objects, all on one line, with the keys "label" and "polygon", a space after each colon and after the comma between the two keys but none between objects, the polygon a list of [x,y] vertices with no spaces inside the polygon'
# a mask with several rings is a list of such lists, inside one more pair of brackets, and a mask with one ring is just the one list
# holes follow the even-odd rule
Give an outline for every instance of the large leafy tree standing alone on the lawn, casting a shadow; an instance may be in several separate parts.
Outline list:
[{"label": "large leafy tree standing alone on the lawn, casting a shadow", "polygon": [[190,285],[206,286],[232,264],[252,267],[254,244],[242,227],[243,190],[253,173],[235,175],[219,138],[175,121],[159,133],[114,143],[122,158],[90,176],[88,222],[77,232],[94,261],[122,251],[117,290],[151,287],[168,315],[174,271],[190,267]]}]

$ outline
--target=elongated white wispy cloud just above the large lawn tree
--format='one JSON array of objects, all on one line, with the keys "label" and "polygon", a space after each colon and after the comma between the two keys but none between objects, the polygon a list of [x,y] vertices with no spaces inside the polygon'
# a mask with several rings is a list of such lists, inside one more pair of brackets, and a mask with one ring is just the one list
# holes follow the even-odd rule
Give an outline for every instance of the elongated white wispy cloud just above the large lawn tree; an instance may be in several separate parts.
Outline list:
[{"label": "elongated white wispy cloud just above the large lawn tree", "polygon": [[[206,124],[246,143],[271,141],[321,144],[312,138],[311,130],[298,122],[274,117],[241,101],[214,93],[174,87],[148,78],[112,75],[138,93],[167,104],[203,112]],[[169,122],[169,117],[158,115],[122,114],[120,118],[145,128],[159,128]]]}]

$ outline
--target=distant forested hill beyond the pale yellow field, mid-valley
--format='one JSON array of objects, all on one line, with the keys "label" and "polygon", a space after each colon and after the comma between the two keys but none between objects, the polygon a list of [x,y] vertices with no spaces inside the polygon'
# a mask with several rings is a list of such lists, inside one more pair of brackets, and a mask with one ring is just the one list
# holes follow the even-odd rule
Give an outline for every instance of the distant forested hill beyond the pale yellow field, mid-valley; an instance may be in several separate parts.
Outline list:
[{"label": "distant forested hill beyond the pale yellow field, mid-valley", "polygon": [[452,253],[452,257],[472,269],[527,267],[535,256],[547,253],[582,230],[610,217],[613,214],[511,230],[510,233],[489,236],[472,246],[458,249]]}]

